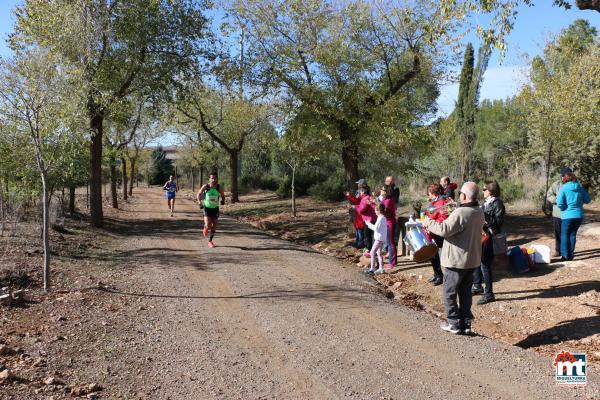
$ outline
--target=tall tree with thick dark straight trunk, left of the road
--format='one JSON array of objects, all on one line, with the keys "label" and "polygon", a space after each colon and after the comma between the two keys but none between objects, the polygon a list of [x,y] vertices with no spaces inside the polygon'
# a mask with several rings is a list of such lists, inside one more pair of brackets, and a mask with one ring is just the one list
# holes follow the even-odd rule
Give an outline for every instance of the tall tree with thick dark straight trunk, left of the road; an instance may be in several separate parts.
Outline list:
[{"label": "tall tree with thick dark straight trunk, left of the road", "polygon": [[29,0],[17,7],[13,47],[50,49],[83,76],[91,137],[93,225],[103,225],[105,117],[130,95],[166,89],[197,62],[205,45],[204,8],[200,0]]}]

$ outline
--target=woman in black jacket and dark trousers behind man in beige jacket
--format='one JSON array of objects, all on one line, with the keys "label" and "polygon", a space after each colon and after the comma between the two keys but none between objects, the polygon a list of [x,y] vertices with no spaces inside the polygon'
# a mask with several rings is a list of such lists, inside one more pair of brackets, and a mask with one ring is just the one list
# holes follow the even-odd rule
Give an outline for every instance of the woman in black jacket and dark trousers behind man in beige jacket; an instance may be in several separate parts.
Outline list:
[{"label": "woman in black jacket and dark trousers behind man in beige jacket", "polygon": [[[494,235],[502,232],[504,224],[504,203],[500,199],[500,185],[498,182],[486,182],[483,187],[485,201],[481,205],[485,216],[483,225],[484,237],[481,241],[481,266],[473,271],[473,294],[483,293],[477,304],[490,303],[496,298],[492,289],[492,263],[494,262]],[[485,290],[481,281],[485,284]]]}]

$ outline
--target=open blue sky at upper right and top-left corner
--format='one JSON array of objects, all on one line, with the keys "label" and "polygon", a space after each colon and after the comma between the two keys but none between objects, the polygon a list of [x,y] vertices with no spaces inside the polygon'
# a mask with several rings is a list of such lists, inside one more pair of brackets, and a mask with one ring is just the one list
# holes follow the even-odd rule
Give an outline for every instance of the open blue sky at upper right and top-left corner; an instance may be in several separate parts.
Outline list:
[{"label": "open blue sky at upper right and top-left corner", "polygon": [[[22,0],[0,0],[0,56],[10,54],[5,39],[12,30],[14,19],[11,10]],[[578,18],[587,19],[600,30],[600,13],[579,11],[576,8],[564,10],[552,6],[550,0],[538,0],[534,7],[521,6],[512,33],[507,37],[508,51],[502,63],[497,52],[492,56],[484,75],[481,99],[505,99],[517,93],[526,82],[527,61],[525,55],[535,56],[542,52],[544,44]],[[475,17],[477,18],[477,17]],[[475,35],[469,35],[477,46]],[[442,88],[438,99],[439,114],[448,115],[454,108],[458,95],[458,84]]]}]

